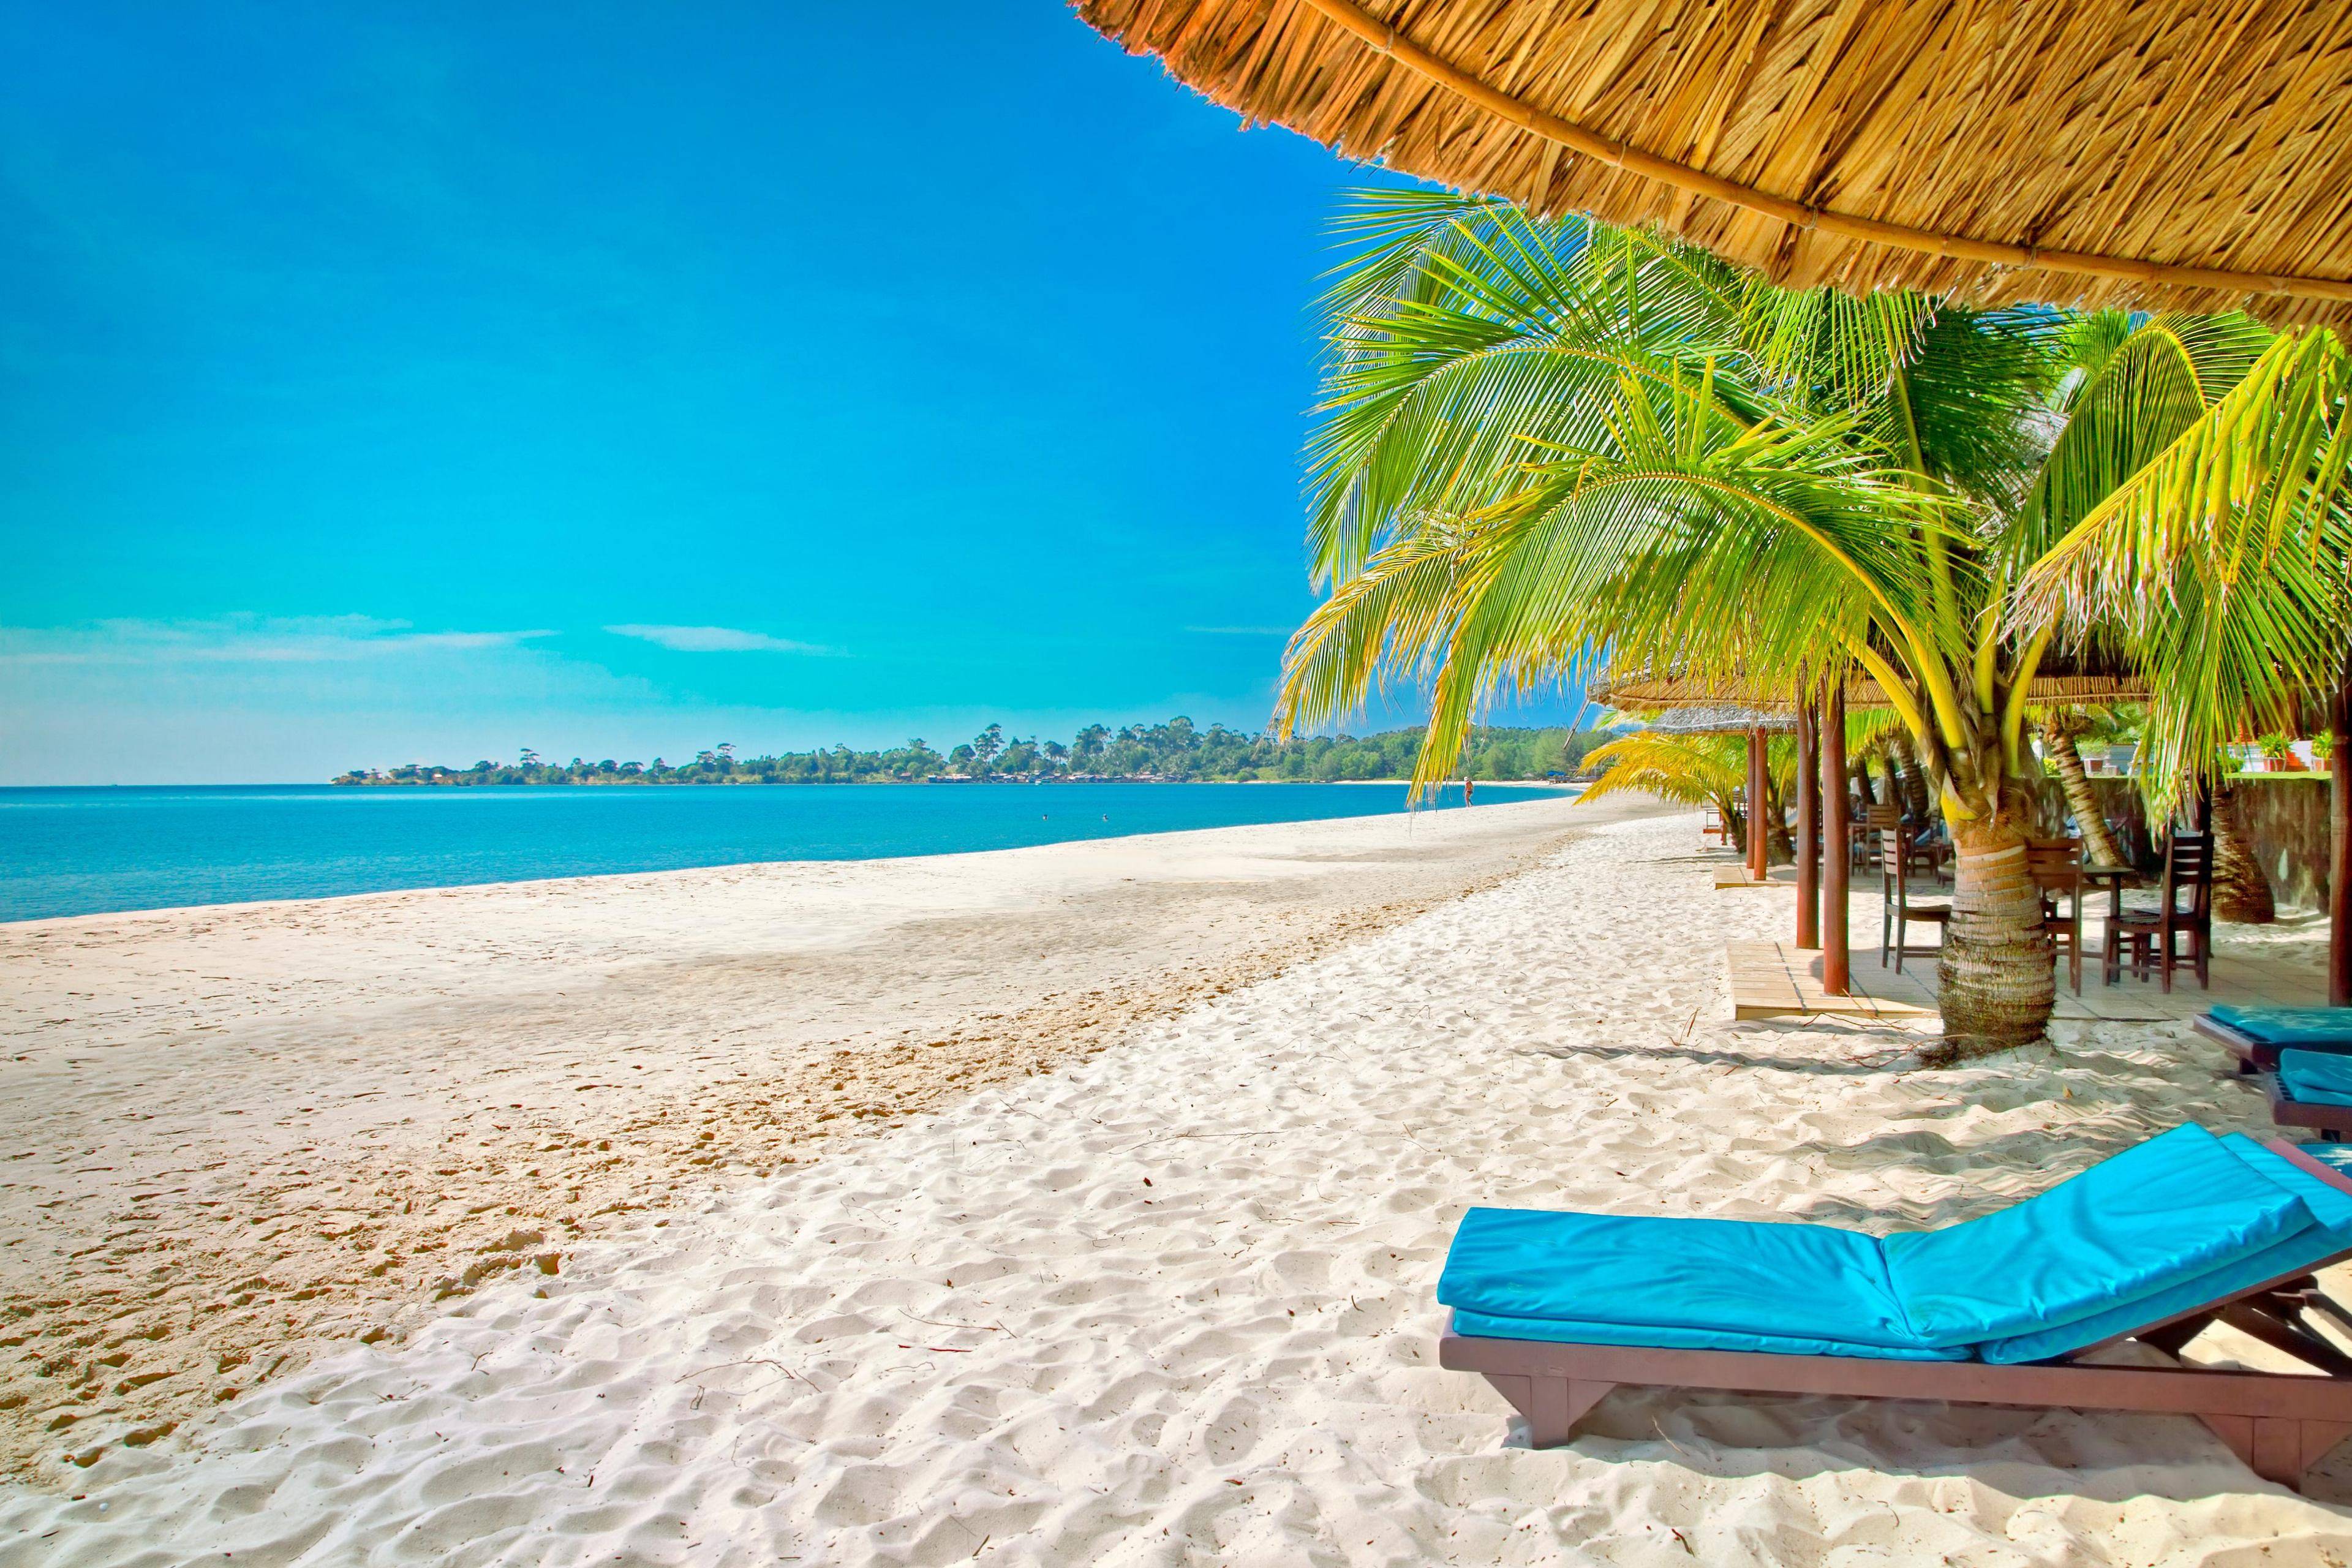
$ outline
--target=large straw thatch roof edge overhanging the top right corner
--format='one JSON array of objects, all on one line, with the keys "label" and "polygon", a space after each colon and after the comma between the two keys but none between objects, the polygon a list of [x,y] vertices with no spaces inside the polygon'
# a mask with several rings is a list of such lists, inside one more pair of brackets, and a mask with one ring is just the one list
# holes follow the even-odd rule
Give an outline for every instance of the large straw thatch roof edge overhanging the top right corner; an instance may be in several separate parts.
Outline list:
[{"label": "large straw thatch roof edge overhanging the top right corner", "polygon": [[1249,120],[1773,280],[2352,324],[2347,0],[1077,0]]}]

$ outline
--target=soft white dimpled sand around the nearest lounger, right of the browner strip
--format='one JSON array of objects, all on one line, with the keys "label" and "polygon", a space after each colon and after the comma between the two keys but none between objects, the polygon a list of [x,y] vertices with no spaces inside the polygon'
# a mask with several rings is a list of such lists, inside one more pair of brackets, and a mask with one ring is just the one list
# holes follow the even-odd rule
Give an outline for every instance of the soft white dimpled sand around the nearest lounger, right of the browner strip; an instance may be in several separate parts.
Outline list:
[{"label": "soft white dimpled sand around the nearest lounger, right of the browner strip", "polygon": [[1606,827],[635,1215],[108,1450],[82,1500],[0,1493],[0,1563],[2352,1561],[2352,1514],[2185,1418],[1621,1392],[1529,1453],[1430,1363],[1465,1204],[1940,1222],[2258,1114],[2173,1027],[1922,1072],[1910,1037],[1710,1023],[1712,943],[1785,910],[1693,844]]}]

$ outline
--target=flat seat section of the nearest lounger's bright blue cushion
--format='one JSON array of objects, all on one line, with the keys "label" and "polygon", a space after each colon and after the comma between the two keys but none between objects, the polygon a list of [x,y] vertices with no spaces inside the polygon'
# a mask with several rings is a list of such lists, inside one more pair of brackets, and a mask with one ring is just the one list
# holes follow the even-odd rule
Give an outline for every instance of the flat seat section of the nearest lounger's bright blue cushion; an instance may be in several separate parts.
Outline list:
[{"label": "flat seat section of the nearest lounger's bright blue cushion", "polygon": [[1877,1237],[1830,1225],[1472,1208],[1437,1300],[1484,1316],[1917,1347]]}]

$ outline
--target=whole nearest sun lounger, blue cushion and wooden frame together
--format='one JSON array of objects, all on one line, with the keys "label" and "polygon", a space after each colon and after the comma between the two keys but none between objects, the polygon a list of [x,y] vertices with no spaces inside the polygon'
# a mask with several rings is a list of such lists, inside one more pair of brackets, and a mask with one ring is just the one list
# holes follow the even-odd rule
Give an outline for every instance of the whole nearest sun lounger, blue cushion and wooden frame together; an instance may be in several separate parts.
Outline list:
[{"label": "whole nearest sun lounger, blue cushion and wooden frame together", "polygon": [[[2011,1208],[1870,1237],[1828,1225],[1472,1208],[1437,1281],[1439,1366],[1536,1448],[1616,1385],[2197,1415],[2270,1481],[2352,1434],[2352,1147],[2180,1126]],[[2180,1366],[2209,1324],[2312,1373]],[[2133,1340],[2161,1366],[2084,1361]]]}]

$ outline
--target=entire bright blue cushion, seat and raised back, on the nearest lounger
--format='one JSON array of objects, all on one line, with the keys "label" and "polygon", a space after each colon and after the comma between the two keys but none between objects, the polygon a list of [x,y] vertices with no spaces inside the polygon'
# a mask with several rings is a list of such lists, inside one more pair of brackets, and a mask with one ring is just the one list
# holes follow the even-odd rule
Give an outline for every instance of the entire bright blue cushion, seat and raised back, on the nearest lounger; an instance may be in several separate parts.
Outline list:
[{"label": "entire bright blue cushion, seat and raised back, on the nearest lounger", "polygon": [[1886,1239],[1472,1208],[1437,1298],[1470,1335],[2009,1363],[2345,1251],[2352,1194],[2253,1140],[2183,1126],[2009,1211]]}]

